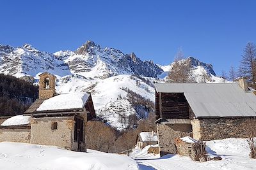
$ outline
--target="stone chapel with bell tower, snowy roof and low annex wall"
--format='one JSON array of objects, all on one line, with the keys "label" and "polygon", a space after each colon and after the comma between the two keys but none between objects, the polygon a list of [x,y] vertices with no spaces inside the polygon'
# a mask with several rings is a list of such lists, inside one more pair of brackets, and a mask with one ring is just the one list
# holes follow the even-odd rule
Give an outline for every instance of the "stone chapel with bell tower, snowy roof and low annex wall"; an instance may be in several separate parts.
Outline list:
[{"label": "stone chapel with bell tower, snowy roof and low annex wall", "polygon": [[40,74],[39,97],[24,116],[31,117],[29,124],[0,126],[0,141],[55,145],[79,152],[86,152],[86,122],[96,117],[90,94],[57,94],[55,76],[49,73]]}]

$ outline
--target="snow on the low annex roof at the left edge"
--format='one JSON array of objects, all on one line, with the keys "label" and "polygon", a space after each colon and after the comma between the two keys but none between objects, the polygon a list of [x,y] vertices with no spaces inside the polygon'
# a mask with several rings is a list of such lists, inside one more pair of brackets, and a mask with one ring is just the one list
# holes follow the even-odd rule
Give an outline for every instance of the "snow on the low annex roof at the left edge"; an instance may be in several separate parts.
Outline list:
[{"label": "snow on the low annex roof at the left edge", "polygon": [[31,117],[17,115],[11,118],[6,119],[1,126],[10,126],[10,125],[28,125],[31,121]]}]

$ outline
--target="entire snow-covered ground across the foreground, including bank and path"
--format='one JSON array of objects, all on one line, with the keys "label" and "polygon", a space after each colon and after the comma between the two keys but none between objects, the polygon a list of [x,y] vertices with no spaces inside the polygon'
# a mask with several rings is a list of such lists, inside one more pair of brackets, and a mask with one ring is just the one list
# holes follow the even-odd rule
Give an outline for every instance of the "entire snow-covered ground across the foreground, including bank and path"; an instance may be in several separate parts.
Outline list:
[{"label": "entire snow-covered ground across the foreground, including bank and path", "polygon": [[[157,147],[158,145],[152,145]],[[56,146],[26,143],[0,143],[0,169],[256,169],[256,159],[250,159],[246,139],[221,139],[207,141],[207,152],[222,160],[195,162],[189,157],[148,153],[134,148],[131,158],[126,155],[88,150],[88,153],[72,152]],[[134,160],[132,160],[134,159]],[[136,162],[137,164],[136,164]]]}]

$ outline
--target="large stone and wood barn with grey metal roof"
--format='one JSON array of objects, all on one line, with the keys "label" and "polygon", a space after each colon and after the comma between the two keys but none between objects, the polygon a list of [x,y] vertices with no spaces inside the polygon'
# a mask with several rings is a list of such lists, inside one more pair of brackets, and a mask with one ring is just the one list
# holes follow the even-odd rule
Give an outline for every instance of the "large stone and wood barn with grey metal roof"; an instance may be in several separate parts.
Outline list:
[{"label": "large stone and wood barn with grey metal roof", "polygon": [[173,140],[248,138],[246,125],[256,117],[255,92],[239,83],[156,83],[159,147],[176,153]]}]

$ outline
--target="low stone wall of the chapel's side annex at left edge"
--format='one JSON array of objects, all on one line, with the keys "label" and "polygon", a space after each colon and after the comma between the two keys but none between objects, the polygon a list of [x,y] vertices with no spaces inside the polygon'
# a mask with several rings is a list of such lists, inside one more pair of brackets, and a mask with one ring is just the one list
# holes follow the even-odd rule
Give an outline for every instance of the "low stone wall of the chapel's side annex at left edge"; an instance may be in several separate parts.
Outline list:
[{"label": "low stone wall of the chapel's side annex at left edge", "polygon": [[15,128],[15,127],[1,127],[0,129],[0,142],[30,142],[30,127]]}]

